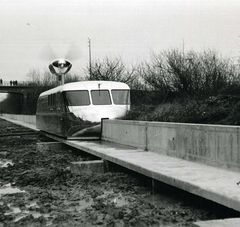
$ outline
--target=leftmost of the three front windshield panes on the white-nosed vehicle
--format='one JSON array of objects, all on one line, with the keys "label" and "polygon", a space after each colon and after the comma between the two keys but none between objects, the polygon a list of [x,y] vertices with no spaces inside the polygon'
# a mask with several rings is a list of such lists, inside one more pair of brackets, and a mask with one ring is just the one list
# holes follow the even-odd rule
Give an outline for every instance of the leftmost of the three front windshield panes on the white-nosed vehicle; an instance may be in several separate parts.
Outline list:
[{"label": "leftmost of the three front windshield panes on the white-nosed vehicle", "polygon": [[88,91],[66,91],[64,92],[69,106],[87,106],[90,105]]}]

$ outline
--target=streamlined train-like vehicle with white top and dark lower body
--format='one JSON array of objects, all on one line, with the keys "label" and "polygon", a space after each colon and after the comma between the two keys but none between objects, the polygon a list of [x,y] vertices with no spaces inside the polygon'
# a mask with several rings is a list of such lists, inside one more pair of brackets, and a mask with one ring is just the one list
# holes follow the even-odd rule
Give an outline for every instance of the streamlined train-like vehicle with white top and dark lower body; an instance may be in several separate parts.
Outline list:
[{"label": "streamlined train-like vehicle with white top and dark lower body", "polygon": [[99,137],[102,118],[119,119],[128,110],[130,89],[125,83],[67,83],[40,94],[37,128],[64,138]]}]

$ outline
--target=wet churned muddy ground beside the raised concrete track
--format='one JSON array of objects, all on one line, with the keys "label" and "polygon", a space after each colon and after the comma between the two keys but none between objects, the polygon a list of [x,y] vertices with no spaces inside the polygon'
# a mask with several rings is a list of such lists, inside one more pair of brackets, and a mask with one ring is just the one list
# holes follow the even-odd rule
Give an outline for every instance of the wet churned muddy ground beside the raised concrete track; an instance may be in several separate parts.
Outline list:
[{"label": "wet churned muddy ground beside the raised concrete track", "polygon": [[192,226],[239,215],[114,165],[75,176],[70,162],[93,157],[70,148],[39,152],[43,141],[0,120],[0,227]]}]

